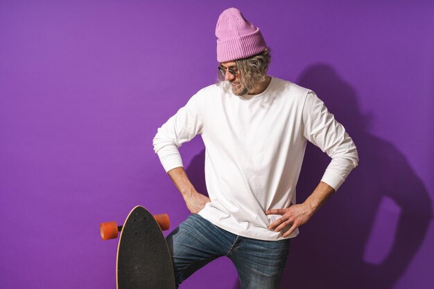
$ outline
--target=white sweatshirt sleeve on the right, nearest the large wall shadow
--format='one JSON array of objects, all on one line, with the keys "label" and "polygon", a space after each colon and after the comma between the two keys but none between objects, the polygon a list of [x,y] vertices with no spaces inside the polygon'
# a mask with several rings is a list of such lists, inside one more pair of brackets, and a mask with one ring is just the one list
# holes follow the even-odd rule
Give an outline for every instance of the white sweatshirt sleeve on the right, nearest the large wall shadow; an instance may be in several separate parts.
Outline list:
[{"label": "white sweatshirt sleeve on the right, nearest the large wall shadow", "polygon": [[356,145],[313,91],[306,96],[303,122],[306,139],[331,157],[321,180],[336,191],[358,165]]}]

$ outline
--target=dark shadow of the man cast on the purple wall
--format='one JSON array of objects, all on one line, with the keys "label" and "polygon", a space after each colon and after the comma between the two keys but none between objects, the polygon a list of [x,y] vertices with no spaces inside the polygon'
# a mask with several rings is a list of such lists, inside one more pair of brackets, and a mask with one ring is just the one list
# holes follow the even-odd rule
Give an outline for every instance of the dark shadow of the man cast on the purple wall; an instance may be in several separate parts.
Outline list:
[{"label": "dark shadow of the man cast on the purple wall", "polygon": [[[368,133],[369,118],[361,113],[354,89],[331,66],[309,66],[297,84],[313,89],[345,125],[361,161],[291,242],[281,288],[393,288],[431,222],[428,192],[394,145]],[[329,161],[308,144],[299,203],[318,185]],[[207,194],[204,162],[205,150],[186,171],[198,192]]]}]

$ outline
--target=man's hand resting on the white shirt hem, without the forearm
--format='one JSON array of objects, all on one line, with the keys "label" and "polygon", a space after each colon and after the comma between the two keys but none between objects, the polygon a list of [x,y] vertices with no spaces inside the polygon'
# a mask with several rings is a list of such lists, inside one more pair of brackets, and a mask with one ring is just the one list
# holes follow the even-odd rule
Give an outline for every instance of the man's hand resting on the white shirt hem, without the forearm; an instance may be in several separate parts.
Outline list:
[{"label": "man's hand resting on the white shirt hem, without the forearm", "polygon": [[277,221],[268,226],[268,229],[281,232],[284,227],[291,225],[290,229],[282,236],[287,237],[294,232],[297,227],[304,225],[313,216],[314,210],[302,203],[300,205],[290,205],[286,209],[269,209],[267,215],[281,215]]}]

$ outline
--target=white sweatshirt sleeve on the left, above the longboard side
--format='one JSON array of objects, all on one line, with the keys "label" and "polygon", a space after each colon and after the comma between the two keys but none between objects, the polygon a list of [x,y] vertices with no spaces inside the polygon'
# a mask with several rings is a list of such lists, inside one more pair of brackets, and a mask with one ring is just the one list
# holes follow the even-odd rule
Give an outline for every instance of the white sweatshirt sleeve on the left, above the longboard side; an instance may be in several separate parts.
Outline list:
[{"label": "white sweatshirt sleeve on the left, above the longboard side", "polygon": [[184,142],[202,133],[203,124],[196,103],[197,96],[197,94],[193,95],[185,106],[157,129],[157,134],[153,139],[154,151],[166,172],[175,167],[182,167],[182,158],[178,148]]}]

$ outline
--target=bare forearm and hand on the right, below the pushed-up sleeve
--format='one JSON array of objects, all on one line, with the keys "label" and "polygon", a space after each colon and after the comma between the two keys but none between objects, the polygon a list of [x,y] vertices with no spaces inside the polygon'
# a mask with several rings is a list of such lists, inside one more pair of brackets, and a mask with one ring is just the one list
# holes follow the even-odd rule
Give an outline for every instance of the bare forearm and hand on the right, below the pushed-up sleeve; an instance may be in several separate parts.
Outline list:
[{"label": "bare forearm and hand on the right, below the pushed-up sleeve", "polygon": [[313,190],[311,196],[306,198],[306,201],[300,205],[290,205],[286,209],[269,209],[267,215],[281,215],[277,221],[268,226],[268,229],[275,232],[281,232],[284,227],[290,225],[290,229],[282,236],[287,237],[294,232],[297,227],[304,225],[311,219],[313,214],[327,201],[327,199],[335,192],[333,187],[330,187],[324,182],[320,182]]}]

